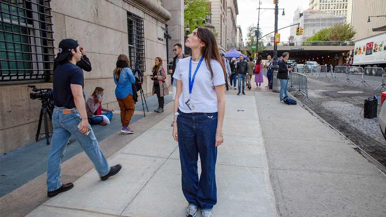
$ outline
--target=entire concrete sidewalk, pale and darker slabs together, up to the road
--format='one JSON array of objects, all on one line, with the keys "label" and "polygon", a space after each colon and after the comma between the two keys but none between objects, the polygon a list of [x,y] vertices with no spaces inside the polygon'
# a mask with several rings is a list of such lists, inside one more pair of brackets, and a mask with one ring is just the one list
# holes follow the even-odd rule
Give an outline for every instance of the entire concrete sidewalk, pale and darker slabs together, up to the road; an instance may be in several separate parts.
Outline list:
[{"label": "entire concrete sidewalk, pale and darker slabs together, up to the road", "polygon": [[[386,176],[354,144],[301,105],[280,103],[278,93],[245,92],[225,92],[215,217],[386,216]],[[185,216],[172,114],[170,103],[164,113],[135,122],[135,135],[100,142],[108,162],[123,166],[116,176],[100,181],[81,153],[62,164],[61,180],[73,181],[73,189],[47,200],[41,175],[20,187],[28,195],[2,197],[2,209],[25,197],[42,202],[28,217]],[[18,216],[17,206],[11,209],[9,216]]]}]

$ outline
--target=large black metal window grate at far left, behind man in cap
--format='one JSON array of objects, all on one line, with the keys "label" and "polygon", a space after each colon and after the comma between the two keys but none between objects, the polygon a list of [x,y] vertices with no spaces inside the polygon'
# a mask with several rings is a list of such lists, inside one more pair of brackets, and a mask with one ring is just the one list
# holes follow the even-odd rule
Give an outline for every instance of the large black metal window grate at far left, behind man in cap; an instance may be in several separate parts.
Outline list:
[{"label": "large black metal window grate at far left, behind man in cap", "polygon": [[47,81],[54,59],[50,0],[0,0],[0,84]]}]

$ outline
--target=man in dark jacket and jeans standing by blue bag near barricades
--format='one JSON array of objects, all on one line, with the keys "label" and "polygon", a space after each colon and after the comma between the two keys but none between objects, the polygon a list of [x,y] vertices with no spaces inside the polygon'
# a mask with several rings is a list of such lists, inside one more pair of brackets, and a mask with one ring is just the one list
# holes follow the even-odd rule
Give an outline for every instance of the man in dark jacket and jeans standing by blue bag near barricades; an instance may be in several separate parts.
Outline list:
[{"label": "man in dark jacket and jeans standing by blue bag near barricades", "polygon": [[281,55],[283,59],[281,59],[278,63],[279,69],[278,69],[278,75],[276,78],[280,81],[280,102],[284,102],[283,93],[286,97],[288,97],[288,79],[289,79],[289,72],[293,70],[293,68],[288,68],[287,60],[289,58],[289,53],[284,52],[283,55]]}]

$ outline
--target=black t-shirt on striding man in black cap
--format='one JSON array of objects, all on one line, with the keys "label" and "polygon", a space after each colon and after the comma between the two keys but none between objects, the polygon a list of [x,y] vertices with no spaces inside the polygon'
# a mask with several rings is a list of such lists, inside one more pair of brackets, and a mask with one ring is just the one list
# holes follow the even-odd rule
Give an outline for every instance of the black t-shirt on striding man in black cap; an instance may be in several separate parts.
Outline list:
[{"label": "black t-shirt on striding man in black cap", "polygon": [[57,107],[75,108],[70,84],[83,88],[83,71],[73,63],[64,63],[56,67],[52,76],[54,88],[54,105]]}]

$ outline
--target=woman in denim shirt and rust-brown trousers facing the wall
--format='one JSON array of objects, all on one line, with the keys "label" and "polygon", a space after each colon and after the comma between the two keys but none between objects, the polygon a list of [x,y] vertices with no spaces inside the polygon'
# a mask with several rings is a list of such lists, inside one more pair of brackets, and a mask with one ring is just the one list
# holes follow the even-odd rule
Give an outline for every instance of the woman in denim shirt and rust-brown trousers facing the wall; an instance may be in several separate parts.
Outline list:
[{"label": "woman in denim shirt and rust-brown trousers facing the wall", "polygon": [[122,123],[121,132],[131,134],[134,131],[129,127],[131,117],[133,117],[135,109],[135,101],[133,94],[132,83],[135,82],[133,71],[131,70],[129,57],[125,54],[120,54],[116,63],[116,68],[113,71],[115,87],[115,97],[120,108],[120,117]]}]

